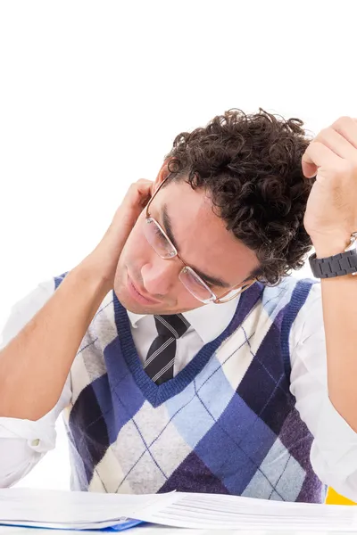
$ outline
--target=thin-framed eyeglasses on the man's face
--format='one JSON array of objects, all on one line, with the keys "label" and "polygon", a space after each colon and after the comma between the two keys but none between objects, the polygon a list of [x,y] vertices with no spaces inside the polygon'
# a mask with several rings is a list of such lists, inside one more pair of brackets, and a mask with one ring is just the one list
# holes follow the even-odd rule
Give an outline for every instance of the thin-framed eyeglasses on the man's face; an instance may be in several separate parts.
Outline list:
[{"label": "thin-framed eyeglasses on the man's face", "polygon": [[245,284],[239,289],[233,288],[232,290],[229,290],[219,298],[215,293],[212,292],[211,288],[207,284],[205,284],[203,279],[195,273],[194,269],[189,268],[185,264],[183,259],[179,257],[179,253],[173,243],[171,243],[169,236],[165,233],[162,226],[160,226],[160,224],[156,221],[155,218],[150,215],[149,212],[151,203],[154,201],[155,196],[160,191],[162,185],[165,184],[169,177],[170,175],[162,181],[162,184],[157,188],[153,197],[150,199],[146,206],[146,218],[144,224],[145,238],[147,242],[151,245],[151,247],[154,249],[156,254],[158,254],[162,259],[170,260],[178,258],[180,260],[183,265],[183,268],[179,272],[179,280],[185,286],[187,291],[195,297],[195,299],[203,302],[204,304],[227,303],[229,300],[235,299],[239,295],[239,293],[245,292],[245,290],[247,290],[250,286],[252,286],[253,283],[255,283],[255,279],[251,283]]}]

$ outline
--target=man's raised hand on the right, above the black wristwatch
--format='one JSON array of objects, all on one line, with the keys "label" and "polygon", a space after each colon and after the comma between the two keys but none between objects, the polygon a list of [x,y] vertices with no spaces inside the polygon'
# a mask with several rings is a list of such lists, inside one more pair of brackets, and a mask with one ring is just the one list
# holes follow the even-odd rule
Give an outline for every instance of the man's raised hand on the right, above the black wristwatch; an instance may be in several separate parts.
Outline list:
[{"label": "man's raised hand on the right, above the black wristwatch", "polygon": [[342,117],[321,130],[303,155],[303,174],[316,177],[304,226],[318,257],[343,252],[357,232],[357,120]]}]

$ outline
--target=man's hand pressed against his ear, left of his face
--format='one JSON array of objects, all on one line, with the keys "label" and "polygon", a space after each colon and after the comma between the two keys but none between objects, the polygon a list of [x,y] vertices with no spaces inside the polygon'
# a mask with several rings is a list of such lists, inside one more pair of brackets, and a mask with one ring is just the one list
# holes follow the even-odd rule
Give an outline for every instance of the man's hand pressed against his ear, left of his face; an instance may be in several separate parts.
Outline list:
[{"label": "man's hand pressed against his ear, left of his face", "polygon": [[84,260],[104,282],[107,292],[112,290],[121,251],[152,196],[153,185],[154,182],[145,178],[130,185],[101,242]]}]

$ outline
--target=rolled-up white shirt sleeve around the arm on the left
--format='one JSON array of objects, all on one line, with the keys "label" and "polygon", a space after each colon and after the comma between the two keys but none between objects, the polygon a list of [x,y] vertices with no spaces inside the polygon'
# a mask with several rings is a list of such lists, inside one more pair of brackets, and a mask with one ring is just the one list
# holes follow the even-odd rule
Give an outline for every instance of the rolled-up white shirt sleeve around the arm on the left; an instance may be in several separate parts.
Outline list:
[{"label": "rolled-up white shirt sleeve around the arm on the left", "polygon": [[[54,281],[39,284],[24,299],[16,303],[4,325],[0,348],[4,348],[14,336],[35,316],[54,293]],[[55,407],[37,421],[0,417],[0,488],[10,487],[20,481],[46,452],[54,449],[55,421],[71,401],[70,375]]]}]

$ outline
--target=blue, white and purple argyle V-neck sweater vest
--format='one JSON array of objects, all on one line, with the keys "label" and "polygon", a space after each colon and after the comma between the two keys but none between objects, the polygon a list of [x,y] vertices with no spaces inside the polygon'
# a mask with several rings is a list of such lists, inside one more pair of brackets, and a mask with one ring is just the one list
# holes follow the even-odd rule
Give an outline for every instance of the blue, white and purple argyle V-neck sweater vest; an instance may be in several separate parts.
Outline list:
[{"label": "blue, white and purple argyle V-neck sweater vest", "polygon": [[311,284],[253,284],[225,331],[161,385],[145,374],[110,292],[71,367],[71,489],[324,501],[289,391],[289,333]]}]

